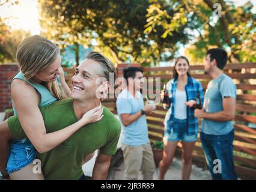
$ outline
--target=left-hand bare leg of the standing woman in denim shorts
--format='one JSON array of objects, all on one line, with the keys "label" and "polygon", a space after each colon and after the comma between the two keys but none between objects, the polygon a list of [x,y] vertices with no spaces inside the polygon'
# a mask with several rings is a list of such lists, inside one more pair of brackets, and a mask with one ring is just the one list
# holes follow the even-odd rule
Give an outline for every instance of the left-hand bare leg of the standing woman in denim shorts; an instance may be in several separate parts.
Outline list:
[{"label": "left-hand bare leg of the standing woman in denim shorts", "polygon": [[165,178],[165,173],[172,163],[176,147],[177,141],[168,142],[167,140],[163,140],[163,159],[159,163],[159,180]]}]

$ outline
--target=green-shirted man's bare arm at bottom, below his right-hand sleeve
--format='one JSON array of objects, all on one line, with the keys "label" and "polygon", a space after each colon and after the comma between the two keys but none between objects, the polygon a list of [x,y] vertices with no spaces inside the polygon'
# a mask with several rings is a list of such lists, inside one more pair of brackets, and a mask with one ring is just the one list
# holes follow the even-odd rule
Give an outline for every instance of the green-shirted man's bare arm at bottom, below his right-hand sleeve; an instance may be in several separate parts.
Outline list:
[{"label": "green-shirted man's bare arm at bottom, below his right-hand sleeve", "polygon": [[93,180],[105,180],[108,176],[111,155],[98,154],[93,167]]}]

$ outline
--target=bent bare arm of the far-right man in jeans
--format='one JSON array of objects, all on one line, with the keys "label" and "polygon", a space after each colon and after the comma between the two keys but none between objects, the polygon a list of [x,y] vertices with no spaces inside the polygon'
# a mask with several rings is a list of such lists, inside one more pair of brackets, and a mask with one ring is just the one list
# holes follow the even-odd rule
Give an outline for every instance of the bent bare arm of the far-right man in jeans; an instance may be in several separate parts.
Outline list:
[{"label": "bent bare arm of the far-right man in jeans", "polygon": [[236,116],[236,98],[225,97],[222,104],[223,110],[217,113],[206,113],[203,110],[196,109],[195,117],[220,122],[232,121]]}]

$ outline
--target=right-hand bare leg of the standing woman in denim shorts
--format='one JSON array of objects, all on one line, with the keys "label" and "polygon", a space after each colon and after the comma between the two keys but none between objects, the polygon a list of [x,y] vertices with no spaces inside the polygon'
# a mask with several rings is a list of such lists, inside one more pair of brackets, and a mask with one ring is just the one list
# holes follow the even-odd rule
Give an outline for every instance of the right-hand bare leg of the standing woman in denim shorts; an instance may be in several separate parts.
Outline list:
[{"label": "right-hand bare leg of the standing woman in denim shorts", "polygon": [[189,179],[191,170],[192,170],[192,156],[195,142],[182,142],[182,159],[183,159],[183,168],[182,168],[182,180]]}]

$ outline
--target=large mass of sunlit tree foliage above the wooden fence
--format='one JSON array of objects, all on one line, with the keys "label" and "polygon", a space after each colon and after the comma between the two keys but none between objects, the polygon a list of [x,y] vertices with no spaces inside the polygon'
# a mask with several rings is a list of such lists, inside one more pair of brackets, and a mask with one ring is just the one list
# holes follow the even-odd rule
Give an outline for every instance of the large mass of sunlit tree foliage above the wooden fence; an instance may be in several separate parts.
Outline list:
[{"label": "large mass of sunlit tree foliage above the wooden fence", "polygon": [[[224,47],[230,61],[255,61],[255,14],[252,4],[235,7],[220,0],[40,0],[43,35],[61,47],[93,47],[115,62],[156,65],[174,58],[181,45],[202,62],[206,50]],[[97,43],[95,43],[97,41]],[[169,53],[169,54],[165,54]]]}]

